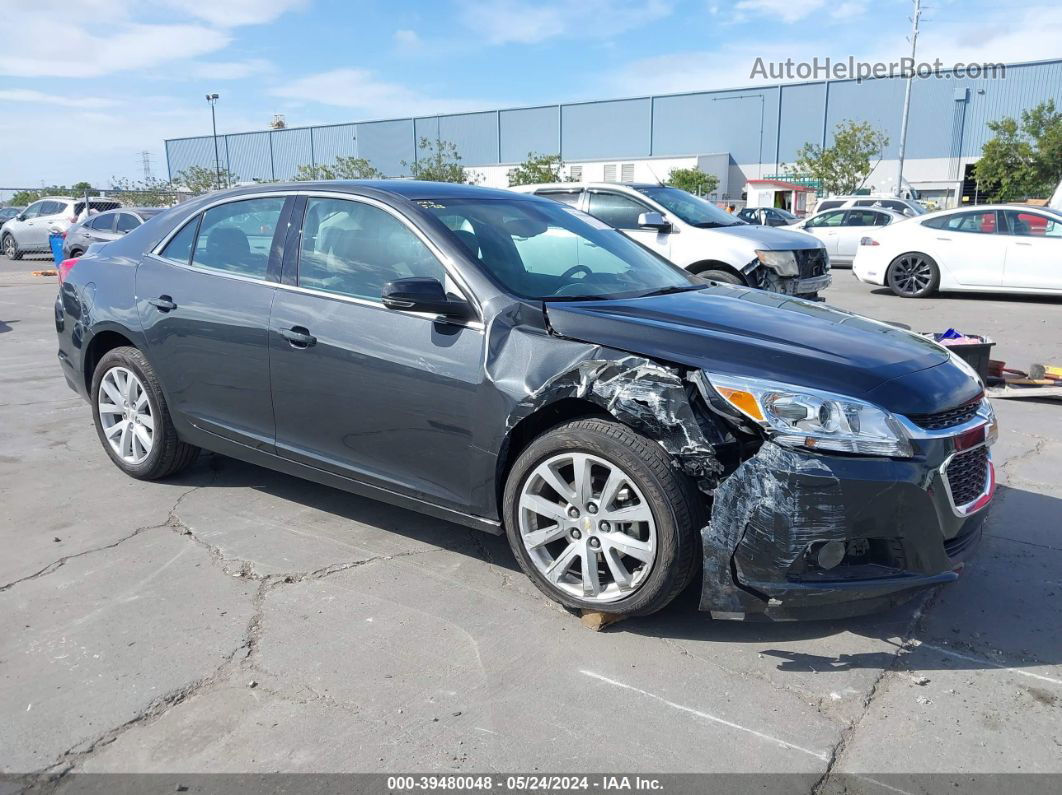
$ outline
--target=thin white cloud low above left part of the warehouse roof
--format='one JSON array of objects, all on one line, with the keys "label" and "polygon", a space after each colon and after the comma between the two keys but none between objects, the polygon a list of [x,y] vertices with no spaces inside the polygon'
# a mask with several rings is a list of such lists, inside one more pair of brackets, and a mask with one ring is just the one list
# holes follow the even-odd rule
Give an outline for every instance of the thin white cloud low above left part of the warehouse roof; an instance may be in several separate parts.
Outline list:
[{"label": "thin white cloud low above left part of the warehouse roof", "polygon": [[483,110],[494,105],[486,101],[433,97],[386,81],[367,69],[332,69],[308,74],[270,91],[296,102],[316,102],[348,107],[365,117],[393,118],[432,114]]}]

